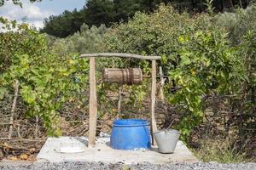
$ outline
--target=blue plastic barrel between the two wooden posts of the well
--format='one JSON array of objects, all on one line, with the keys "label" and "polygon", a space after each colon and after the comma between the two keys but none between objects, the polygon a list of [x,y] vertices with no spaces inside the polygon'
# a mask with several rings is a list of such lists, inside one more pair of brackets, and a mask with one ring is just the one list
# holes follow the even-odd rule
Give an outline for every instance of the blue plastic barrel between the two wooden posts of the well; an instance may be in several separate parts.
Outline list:
[{"label": "blue plastic barrel between the two wooden posts of the well", "polygon": [[143,119],[119,119],[113,122],[110,146],[115,150],[150,148],[148,121]]}]

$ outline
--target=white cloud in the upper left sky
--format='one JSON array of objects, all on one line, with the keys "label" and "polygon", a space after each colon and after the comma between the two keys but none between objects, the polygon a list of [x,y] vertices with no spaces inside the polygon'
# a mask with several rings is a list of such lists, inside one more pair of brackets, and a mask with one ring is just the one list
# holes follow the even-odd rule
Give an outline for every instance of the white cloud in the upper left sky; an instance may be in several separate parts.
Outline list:
[{"label": "white cloud in the upper left sky", "polygon": [[0,16],[9,20],[17,20],[18,22],[26,19],[28,24],[40,28],[44,26],[43,21],[45,18],[55,14],[52,11],[38,8],[34,3],[22,3],[22,6],[23,8],[20,8],[20,6],[7,1],[3,7],[0,7]]}]

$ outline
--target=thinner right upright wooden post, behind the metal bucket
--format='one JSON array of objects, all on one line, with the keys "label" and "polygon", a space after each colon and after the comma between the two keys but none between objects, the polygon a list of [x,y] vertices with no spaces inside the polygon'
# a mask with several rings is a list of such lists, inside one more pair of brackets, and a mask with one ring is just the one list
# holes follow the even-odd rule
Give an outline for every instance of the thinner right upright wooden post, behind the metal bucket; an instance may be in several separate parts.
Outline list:
[{"label": "thinner right upright wooden post, behind the metal bucket", "polygon": [[156,92],[156,62],[152,60],[152,70],[151,70],[152,82],[151,82],[151,114],[150,114],[150,132],[152,138],[152,145],[155,145],[153,133],[157,132],[156,121],[154,117],[154,105],[155,105],[155,92]]}]

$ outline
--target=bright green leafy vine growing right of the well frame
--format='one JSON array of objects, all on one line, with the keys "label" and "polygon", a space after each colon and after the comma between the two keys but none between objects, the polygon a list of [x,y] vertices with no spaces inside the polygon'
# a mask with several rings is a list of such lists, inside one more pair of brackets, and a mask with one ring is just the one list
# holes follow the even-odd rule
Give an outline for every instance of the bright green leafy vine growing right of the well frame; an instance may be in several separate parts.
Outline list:
[{"label": "bright green leafy vine growing right of the well frame", "polygon": [[204,97],[237,93],[236,86],[241,86],[244,71],[236,49],[230,48],[222,30],[195,31],[193,36],[180,36],[179,42],[183,46],[177,51],[177,66],[169,75],[180,89],[169,95],[169,101],[190,112],[177,125],[188,137],[203,120]]}]

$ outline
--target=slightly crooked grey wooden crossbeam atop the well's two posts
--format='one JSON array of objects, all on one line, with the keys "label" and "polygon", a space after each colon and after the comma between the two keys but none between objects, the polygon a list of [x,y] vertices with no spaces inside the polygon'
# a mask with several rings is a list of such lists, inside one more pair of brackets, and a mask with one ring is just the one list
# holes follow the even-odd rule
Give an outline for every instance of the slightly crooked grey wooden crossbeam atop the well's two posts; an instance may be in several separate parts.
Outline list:
[{"label": "slightly crooked grey wooden crossbeam atop the well's two posts", "polygon": [[144,55],[124,54],[124,53],[81,54],[80,57],[81,58],[84,58],[84,57],[122,57],[122,58],[133,58],[133,59],[149,59],[149,60],[161,59],[160,56],[144,56]]}]

